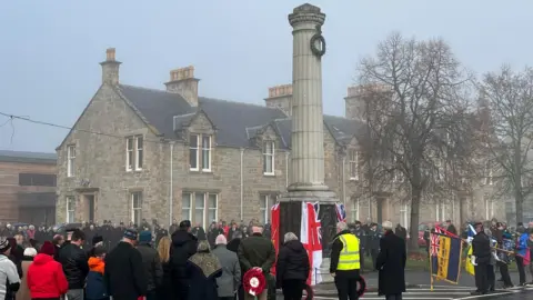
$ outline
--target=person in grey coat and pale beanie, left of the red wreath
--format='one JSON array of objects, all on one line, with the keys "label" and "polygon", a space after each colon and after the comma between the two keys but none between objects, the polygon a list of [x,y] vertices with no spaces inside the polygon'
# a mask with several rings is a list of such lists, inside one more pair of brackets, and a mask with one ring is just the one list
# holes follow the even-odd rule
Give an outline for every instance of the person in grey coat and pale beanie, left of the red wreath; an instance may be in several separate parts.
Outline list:
[{"label": "person in grey coat and pale beanie, left of the red wreath", "polygon": [[217,278],[218,294],[221,300],[235,299],[235,292],[241,284],[241,267],[235,252],[225,247],[228,240],[224,234],[219,234],[215,240],[215,248],[212,253],[219,258],[222,264],[222,276]]}]

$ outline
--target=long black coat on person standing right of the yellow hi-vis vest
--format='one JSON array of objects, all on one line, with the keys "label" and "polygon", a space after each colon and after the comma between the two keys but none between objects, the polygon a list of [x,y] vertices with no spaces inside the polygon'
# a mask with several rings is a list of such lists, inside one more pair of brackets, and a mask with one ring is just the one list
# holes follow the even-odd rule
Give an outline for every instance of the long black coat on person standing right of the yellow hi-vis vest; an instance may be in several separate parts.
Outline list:
[{"label": "long black coat on person standing right of the yellow hi-vis vest", "polygon": [[405,291],[405,241],[386,231],[380,240],[380,253],[375,260],[379,270],[378,294],[398,294]]}]

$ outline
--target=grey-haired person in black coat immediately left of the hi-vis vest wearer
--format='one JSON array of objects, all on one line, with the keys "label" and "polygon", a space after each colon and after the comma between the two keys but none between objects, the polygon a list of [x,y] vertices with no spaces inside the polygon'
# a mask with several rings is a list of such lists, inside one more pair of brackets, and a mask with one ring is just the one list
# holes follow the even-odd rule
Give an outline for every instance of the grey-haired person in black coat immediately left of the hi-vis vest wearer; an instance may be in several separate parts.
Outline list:
[{"label": "grey-haired person in black coat immediately left of the hi-vis vest wearer", "polygon": [[309,256],[296,234],[288,232],[275,264],[275,286],[283,290],[285,300],[301,300],[309,277]]}]

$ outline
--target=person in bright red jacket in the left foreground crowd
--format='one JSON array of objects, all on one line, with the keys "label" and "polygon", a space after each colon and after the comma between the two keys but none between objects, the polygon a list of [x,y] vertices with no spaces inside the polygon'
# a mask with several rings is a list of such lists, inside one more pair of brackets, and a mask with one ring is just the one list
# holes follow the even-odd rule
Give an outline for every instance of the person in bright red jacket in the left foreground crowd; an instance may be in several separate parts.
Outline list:
[{"label": "person in bright red jacket in the left foreground crowd", "polygon": [[61,263],[53,260],[54,252],[56,247],[46,241],[28,268],[27,282],[33,300],[59,300],[69,289]]}]

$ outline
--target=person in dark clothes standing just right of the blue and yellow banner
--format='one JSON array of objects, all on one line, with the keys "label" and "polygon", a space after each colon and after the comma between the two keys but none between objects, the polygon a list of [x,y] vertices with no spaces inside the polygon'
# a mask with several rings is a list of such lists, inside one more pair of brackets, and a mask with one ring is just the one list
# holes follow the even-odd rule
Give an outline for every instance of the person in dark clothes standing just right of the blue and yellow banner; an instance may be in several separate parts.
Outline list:
[{"label": "person in dark clothes standing just right of the blue and yellow banner", "polygon": [[485,234],[483,223],[476,222],[474,224],[476,234],[472,240],[472,261],[474,263],[475,287],[476,290],[472,292],[473,296],[486,294],[489,292],[489,264],[491,263],[491,240]]}]

